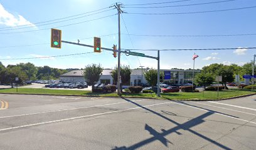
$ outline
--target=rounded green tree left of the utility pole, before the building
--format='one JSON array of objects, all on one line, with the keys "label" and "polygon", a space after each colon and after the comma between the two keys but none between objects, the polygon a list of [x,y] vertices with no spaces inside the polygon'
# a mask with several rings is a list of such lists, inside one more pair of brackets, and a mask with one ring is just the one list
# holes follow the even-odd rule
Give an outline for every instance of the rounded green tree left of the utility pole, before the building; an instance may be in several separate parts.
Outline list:
[{"label": "rounded green tree left of the utility pole, before the building", "polygon": [[89,86],[93,87],[93,84],[100,79],[100,74],[102,73],[103,68],[100,64],[88,64],[85,66],[85,69],[83,71],[83,76],[85,80],[87,81]]}]

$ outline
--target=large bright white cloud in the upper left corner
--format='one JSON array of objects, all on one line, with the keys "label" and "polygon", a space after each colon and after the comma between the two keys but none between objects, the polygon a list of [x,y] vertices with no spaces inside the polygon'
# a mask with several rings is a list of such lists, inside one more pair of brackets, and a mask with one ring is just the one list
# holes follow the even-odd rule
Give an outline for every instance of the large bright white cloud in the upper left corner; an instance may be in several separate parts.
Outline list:
[{"label": "large bright white cloud in the upper left corner", "polygon": [[4,9],[4,6],[0,4],[0,24],[4,24],[6,26],[22,26],[29,24],[30,26],[35,27],[35,24],[32,24],[31,22],[27,21],[23,16],[19,15],[14,16],[10,12],[6,11]]}]

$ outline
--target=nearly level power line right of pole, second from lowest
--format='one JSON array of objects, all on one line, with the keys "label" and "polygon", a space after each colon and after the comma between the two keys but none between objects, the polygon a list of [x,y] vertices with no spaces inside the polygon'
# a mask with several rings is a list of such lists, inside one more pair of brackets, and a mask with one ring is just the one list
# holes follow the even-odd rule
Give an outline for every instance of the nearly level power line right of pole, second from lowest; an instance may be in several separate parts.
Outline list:
[{"label": "nearly level power line right of pole, second from lowest", "polygon": [[[122,34],[128,35],[128,34]],[[220,36],[256,36],[251,34],[216,34],[216,35],[152,35],[152,34],[129,34],[130,36],[151,36],[151,37],[220,37]]]}]

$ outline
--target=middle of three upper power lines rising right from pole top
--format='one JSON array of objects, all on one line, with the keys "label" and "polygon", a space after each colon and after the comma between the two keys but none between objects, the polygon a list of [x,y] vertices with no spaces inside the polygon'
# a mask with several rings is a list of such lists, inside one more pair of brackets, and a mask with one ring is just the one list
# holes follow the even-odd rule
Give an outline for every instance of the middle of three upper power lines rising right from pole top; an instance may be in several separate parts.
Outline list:
[{"label": "middle of three upper power lines rising right from pole top", "polygon": [[174,6],[149,6],[149,7],[125,7],[125,8],[139,8],[139,9],[146,9],[146,8],[176,8],[176,7],[183,7],[183,6],[198,6],[204,4],[216,4],[221,2],[230,2],[230,1],[237,1],[237,0],[226,0],[226,1],[215,1],[215,2],[203,2],[197,4],[182,4],[182,5],[174,5]]}]

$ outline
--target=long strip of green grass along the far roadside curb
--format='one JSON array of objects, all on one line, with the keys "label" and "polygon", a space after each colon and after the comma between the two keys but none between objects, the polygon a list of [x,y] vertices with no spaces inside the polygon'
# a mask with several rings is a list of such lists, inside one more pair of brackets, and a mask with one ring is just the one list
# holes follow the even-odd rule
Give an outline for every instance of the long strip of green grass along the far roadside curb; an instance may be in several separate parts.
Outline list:
[{"label": "long strip of green grass along the far roadside curb", "polygon": [[[13,89],[0,89],[0,93],[16,93],[16,88]],[[33,88],[19,88],[19,94],[56,94],[56,95],[76,95],[76,96],[114,96],[117,93],[92,93],[92,91],[82,90],[63,90],[63,89],[33,89]],[[207,100],[207,99],[222,99],[231,98],[235,96],[242,96],[246,94],[254,94],[256,91],[244,90],[223,90],[219,92],[217,97],[216,91],[204,91],[203,93],[162,93],[161,97],[166,99],[194,99],[194,100]],[[156,94],[150,93],[124,93],[124,97],[141,97],[141,98],[157,98]]]}]

